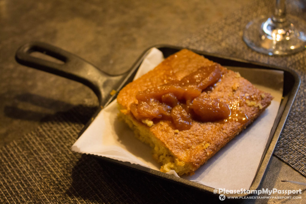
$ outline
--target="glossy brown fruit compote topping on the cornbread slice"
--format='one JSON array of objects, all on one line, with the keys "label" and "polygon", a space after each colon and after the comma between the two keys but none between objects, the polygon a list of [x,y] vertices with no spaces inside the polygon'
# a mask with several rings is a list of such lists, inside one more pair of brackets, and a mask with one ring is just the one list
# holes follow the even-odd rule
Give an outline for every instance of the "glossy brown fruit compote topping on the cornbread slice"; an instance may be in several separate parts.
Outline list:
[{"label": "glossy brown fruit compote topping on the cornbread slice", "polygon": [[178,130],[188,130],[192,119],[208,121],[244,121],[239,101],[227,104],[211,98],[208,91],[222,77],[220,65],[201,67],[181,80],[171,80],[158,87],[136,94],[138,103],[132,103],[131,112],[137,120],[169,120]]}]

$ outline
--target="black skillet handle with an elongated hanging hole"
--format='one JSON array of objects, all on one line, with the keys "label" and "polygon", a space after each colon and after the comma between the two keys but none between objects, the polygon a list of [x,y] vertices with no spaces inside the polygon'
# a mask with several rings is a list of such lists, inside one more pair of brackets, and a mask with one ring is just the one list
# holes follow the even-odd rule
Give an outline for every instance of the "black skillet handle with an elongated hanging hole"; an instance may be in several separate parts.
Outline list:
[{"label": "black skillet handle with an elongated hanging hole", "polygon": [[[62,63],[52,62],[31,55],[40,52],[54,57]],[[47,43],[31,42],[21,46],[15,55],[18,63],[78,81],[91,88],[98,96],[100,106],[105,105],[111,88],[122,76],[110,76],[84,59]],[[108,90],[109,89],[109,90]],[[104,98],[103,98],[104,96]]]}]

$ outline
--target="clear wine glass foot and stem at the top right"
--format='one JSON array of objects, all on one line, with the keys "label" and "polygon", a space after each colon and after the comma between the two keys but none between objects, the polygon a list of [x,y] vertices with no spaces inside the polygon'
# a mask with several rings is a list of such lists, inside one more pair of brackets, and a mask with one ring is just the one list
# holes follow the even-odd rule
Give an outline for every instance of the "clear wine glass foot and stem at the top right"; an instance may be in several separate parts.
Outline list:
[{"label": "clear wine glass foot and stem at the top right", "polygon": [[293,54],[306,48],[306,22],[286,15],[285,0],[276,0],[272,16],[262,16],[249,22],[243,32],[243,40],[260,53]]}]

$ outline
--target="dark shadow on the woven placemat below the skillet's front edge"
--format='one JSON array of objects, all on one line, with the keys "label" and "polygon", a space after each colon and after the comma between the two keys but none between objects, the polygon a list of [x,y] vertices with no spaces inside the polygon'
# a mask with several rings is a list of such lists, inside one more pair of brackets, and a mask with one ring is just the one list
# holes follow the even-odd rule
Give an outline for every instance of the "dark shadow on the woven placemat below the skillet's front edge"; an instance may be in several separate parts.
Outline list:
[{"label": "dark shadow on the woven placemat below the skillet's front edge", "polygon": [[67,195],[85,201],[111,203],[203,203],[218,196],[144,172],[82,155],[72,170]]}]

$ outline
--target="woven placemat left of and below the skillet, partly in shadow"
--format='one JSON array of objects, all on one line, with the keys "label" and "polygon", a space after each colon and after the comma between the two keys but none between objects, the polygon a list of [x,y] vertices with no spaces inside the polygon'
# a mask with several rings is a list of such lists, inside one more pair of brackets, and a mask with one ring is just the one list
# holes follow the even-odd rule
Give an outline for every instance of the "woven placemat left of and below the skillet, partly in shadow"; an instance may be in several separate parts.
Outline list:
[{"label": "woven placemat left of and below the skillet, partly in shadow", "polygon": [[197,203],[202,191],[70,150],[94,107],[78,106],[0,148],[0,203]]}]

